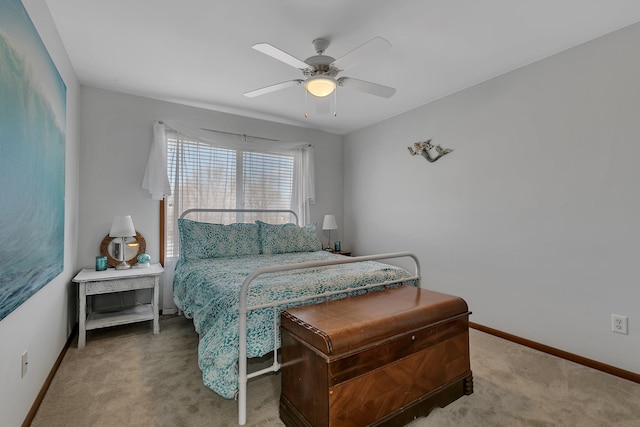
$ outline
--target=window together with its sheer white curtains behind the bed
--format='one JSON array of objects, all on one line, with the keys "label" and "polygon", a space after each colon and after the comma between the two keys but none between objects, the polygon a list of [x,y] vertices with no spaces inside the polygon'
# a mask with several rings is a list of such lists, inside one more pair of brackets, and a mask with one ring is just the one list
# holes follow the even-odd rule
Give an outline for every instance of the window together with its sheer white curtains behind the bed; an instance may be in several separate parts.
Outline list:
[{"label": "window together with its sheer white curtains behind the bed", "polygon": [[[217,132],[216,136],[211,132]],[[155,122],[142,187],[152,199],[164,200],[164,244],[160,248],[163,310],[176,310],[172,284],[180,249],[177,223],[182,212],[196,208],[291,209],[297,213],[298,223],[305,225],[311,221],[311,205],[315,203],[314,169],[313,146],[305,142]],[[198,213],[188,218],[226,224],[257,219],[246,213],[234,215]],[[261,213],[260,219],[273,223],[292,220],[288,213]]]}]

